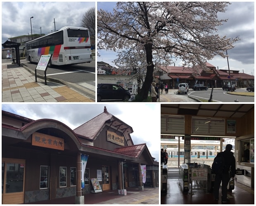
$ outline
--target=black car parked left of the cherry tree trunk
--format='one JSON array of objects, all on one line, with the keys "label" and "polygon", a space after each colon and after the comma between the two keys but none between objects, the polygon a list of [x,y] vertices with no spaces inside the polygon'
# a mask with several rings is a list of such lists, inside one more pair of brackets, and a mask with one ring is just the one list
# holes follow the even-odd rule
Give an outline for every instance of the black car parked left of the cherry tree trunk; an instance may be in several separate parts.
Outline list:
[{"label": "black car parked left of the cherry tree trunk", "polygon": [[123,89],[118,84],[98,84],[97,85],[97,102],[102,100],[124,100],[130,99],[130,91]]}]

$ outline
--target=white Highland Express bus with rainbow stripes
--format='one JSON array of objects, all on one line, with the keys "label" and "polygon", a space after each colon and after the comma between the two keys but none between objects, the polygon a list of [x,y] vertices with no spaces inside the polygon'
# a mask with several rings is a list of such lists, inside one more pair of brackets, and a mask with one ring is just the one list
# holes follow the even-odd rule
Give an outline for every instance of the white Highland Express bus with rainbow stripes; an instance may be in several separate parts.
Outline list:
[{"label": "white Highland Express bus with rainbow stripes", "polygon": [[38,63],[41,55],[52,54],[51,65],[78,64],[92,61],[88,28],[63,27],[26,43],[26,60]]}]

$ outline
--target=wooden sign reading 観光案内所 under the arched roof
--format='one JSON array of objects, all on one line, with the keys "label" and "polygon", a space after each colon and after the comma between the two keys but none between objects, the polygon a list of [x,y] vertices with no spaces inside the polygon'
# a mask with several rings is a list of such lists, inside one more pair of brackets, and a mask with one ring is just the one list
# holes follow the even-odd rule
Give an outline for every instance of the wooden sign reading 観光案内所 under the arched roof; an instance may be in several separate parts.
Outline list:
[{"label": "wooden sign reading \u89b3\u5149\u6848\u5185\u6240 under the arched roof", "polygon": [[55,150],[64,150],[64,139],[34,132],[32,135],[32,145]]}]

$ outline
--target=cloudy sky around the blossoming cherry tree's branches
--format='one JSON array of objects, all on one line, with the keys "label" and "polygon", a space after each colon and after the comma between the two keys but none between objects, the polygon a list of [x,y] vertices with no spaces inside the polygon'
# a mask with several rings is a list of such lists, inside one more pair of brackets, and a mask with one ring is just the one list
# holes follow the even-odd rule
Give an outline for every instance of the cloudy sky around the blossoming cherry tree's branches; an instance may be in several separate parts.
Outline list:
[{"label": "cloudy sky around the blossoming cherry tree's branches", "polygon": [[[97,2],[97,9],[112,11],[115,2]],[[240,41],[235,43],[235,48],[228,51],[228,61],[230,70],[239,70],[254,75],[254,2],[232,2],[228,5],[225,13],[220,13],[219,19],[228,19],[223,26],[218,27],[219,35],[235,38],[240,37]],[[112,61],[116,59],[116,54],[111,52],[98,51],[100,56],[98,61],[104,61],[111,66],[115,66]],[[213,66],[219,69],[228,70],[228,61],[220,56],[209,60]],[[181,61],[175,63],[182,66]]]}]

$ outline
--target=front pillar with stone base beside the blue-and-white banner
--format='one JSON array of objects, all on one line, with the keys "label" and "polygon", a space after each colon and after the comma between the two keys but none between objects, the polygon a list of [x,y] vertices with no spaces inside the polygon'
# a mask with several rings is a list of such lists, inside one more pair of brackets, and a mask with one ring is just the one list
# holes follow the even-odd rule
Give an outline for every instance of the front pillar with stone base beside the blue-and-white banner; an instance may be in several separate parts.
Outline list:
[{"label": "front pillar with stone base beside the blue-and-white banner", "polygon": [[82,195],[82,182],[81,182],[81,174],[82,174],[82,166],[81,166],[81,153],[77,153],[76,156],[76,197],[75,204],[84,204],[84,196]]}]

